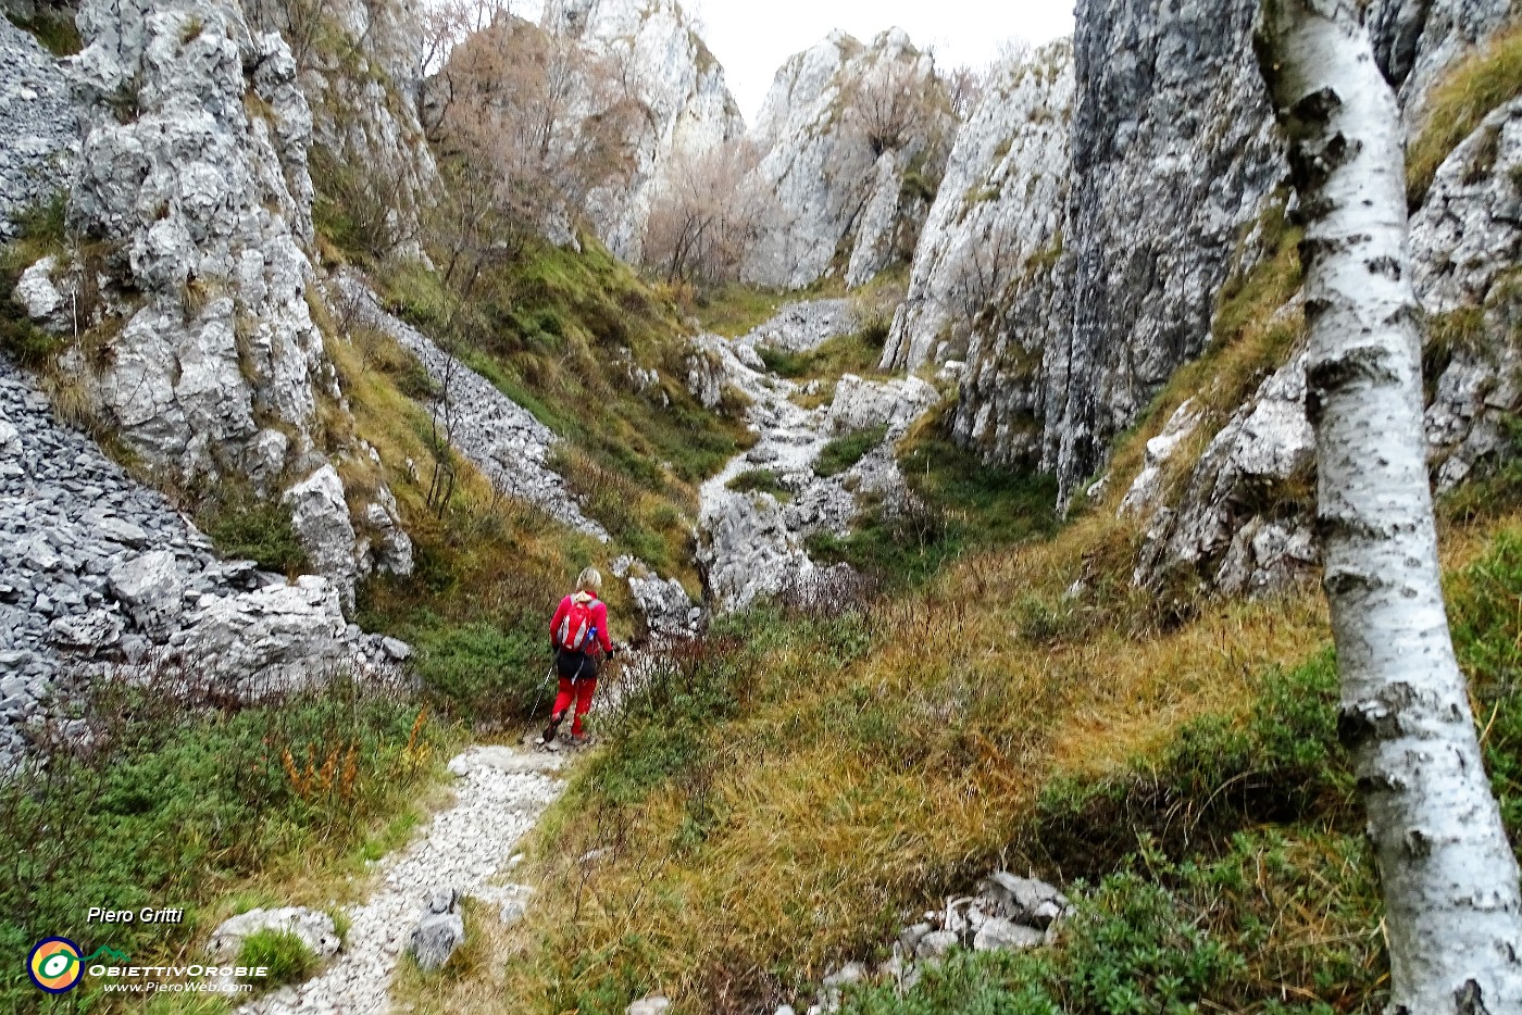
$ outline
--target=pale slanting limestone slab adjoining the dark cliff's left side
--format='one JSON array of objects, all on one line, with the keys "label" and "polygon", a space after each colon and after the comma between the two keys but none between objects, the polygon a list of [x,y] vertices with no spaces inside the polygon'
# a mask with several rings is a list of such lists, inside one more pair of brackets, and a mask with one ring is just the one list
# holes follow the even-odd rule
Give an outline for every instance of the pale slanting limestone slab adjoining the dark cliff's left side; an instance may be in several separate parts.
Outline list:
[{"label": "pale slanting limestone slab adjoining the dark cliff's left side", "polygon": [[1067,196],[1071,105],[1067,40],[997,68],[947,160],[884,367],[963,356],[979,315],[1052,245]]}]

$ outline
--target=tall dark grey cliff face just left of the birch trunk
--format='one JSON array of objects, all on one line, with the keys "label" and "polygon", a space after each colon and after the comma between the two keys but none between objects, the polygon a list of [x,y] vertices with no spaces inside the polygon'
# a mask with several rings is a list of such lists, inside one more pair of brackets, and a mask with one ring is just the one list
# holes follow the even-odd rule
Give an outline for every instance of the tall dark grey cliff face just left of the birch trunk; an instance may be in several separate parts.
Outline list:
[{"label": "tall dark grey cliff face just left of the birch trunk", "polygon": [[1064,501],[1210,338],[1242,227],[1286,173],[1254,0],[1081,0],[1070,324],[1043,350],[1043,458]]}]

